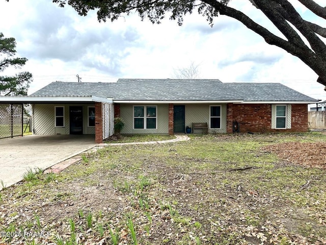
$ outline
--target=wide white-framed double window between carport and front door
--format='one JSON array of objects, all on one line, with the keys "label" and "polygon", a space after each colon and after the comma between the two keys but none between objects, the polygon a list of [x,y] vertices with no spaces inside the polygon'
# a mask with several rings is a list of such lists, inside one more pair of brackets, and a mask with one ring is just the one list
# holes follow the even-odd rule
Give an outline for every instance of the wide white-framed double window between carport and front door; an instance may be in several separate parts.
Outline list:
[{"label": "wide white-framed double window between carport and front door", "polygon": [[156,129],[156,106],[134,106],[133,128]]}]

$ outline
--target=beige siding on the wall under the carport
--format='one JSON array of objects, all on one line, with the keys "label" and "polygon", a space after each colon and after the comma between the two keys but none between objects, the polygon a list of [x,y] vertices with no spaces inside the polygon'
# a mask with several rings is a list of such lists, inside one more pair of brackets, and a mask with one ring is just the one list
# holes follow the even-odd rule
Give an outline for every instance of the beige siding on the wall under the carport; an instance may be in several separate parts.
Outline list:
[{"label": "beige siding on the wall under the carport", "polygon": [[[55,127],[55,107],[64,106],[65,126]],[[88,107],[93,105],[35,104],[33,105],[34,134],[69,134],[69,106],[83,106],[83,134],[95,134],[95,127],[88,127]]]}]

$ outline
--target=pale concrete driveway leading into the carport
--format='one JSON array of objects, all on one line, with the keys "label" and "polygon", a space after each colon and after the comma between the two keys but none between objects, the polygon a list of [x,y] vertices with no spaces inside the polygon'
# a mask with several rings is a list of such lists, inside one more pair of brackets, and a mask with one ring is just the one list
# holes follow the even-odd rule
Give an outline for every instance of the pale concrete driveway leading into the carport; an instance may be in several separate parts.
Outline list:
[{"label": "pale concrete driveway leading into the carport", "polygon": [[21,181],[29,168],[48,168],[96,145],[94,135],[29,135],[0,140],[0,180],[8,187]]}]

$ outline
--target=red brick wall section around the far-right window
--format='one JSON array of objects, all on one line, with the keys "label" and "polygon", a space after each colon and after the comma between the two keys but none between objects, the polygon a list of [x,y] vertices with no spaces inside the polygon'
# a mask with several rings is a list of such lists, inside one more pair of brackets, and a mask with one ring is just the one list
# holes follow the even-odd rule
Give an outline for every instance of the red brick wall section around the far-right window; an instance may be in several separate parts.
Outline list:
[{"label": "red brick wall section around the far-right window", "polygon": [[271,129],[270,104],[228,104],[227,133],[232,133],[232,123],[237,121],[240,132],[306,132],[308,130],[308,106],[291,106],[291,129]]}]

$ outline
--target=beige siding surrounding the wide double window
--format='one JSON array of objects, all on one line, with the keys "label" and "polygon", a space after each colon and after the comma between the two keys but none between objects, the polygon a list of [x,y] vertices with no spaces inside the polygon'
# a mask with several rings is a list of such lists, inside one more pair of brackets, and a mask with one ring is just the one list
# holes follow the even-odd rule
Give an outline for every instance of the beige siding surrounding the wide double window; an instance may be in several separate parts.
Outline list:
[{"label": "beige siding surrounding the wide double window", "polygon": [[133,129],[133,104],[120,104],[120,116],[125,122],[122,134],[168,134],[169,107],[168,105],[140,105],[157,106],[157,129]]}]

